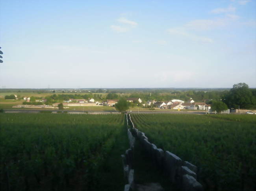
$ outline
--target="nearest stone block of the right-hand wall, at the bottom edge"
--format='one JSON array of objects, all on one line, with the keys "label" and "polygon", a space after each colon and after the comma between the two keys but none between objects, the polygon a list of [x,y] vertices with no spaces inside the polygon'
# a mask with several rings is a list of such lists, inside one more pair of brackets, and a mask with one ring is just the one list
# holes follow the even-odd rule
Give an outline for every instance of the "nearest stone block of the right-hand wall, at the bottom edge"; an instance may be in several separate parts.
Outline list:
[{"label": "nearest stone block of the right-hand wall, at the bottom edge", "polygon": [[182,176],[182,191],[203,191],[203,186],[190,175]]}]

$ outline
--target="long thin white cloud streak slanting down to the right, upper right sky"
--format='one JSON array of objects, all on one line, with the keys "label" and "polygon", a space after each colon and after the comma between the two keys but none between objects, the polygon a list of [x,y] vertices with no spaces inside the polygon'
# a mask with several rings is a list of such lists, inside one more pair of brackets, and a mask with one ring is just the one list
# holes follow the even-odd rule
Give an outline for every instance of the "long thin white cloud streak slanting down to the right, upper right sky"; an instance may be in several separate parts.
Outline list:
[{"label": "long thin white cloud streak slanting down to the right, upper right sky", "polygon": [[182,28],[171,28],[171,29],[168,29],[168,32],[171,35],[186,37],[187,39],[193,40],[195,42],[203,42],[203,43],[212,43],[213,42],[213,40],[211,38],[194,35],[192,33],[187,32],[185,29],[182,29]]}]

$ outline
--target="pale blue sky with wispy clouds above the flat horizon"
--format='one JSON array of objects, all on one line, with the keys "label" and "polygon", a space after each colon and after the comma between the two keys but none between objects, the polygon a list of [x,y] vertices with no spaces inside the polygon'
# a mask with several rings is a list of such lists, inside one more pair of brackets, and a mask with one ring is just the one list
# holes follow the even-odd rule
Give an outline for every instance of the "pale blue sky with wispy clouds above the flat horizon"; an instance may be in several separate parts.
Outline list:
[{"label": "pale blue sky with wispy clouds above the flat horizon", "polygon": [[0,88],[256,87],[256,0],[0,0]]}]

